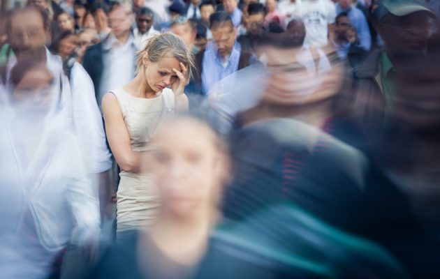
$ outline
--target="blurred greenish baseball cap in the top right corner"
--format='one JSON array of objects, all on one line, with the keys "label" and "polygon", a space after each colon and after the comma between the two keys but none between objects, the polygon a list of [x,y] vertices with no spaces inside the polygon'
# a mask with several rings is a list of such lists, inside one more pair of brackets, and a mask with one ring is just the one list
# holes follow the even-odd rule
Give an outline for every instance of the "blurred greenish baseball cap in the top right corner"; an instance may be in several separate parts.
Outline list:
[{"label": "blurred greenish baseball cap in the top right corner", "polygon": [[[427,11],[432,13],[432,10],[427,8],[425,1],[421,0],[382,0],[377,2],[378,7],[376,13],[379,13],[379,18],[384,17],[388,13],[403,17],[411,13],[419,11]],[[432,13],[434,16],[434,13]]]}]

